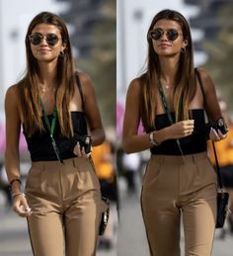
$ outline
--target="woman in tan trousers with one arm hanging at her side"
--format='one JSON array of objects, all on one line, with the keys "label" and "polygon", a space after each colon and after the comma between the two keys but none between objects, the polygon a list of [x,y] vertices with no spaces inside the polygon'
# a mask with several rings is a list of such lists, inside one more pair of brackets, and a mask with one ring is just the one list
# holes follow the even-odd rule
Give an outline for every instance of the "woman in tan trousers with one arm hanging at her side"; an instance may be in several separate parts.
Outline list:
[{"label": "woman in tan trousers with one arm hanging at her side", "polygon": [[[27,72],[6,94],[6,170],[13,209],[28,218],[34,255],[95,255],[105,205],[90,152],[105,132],[91,80],[74,72],[69,35],[58,16],[42,12],[26,35]],[[19,135],[23,130],[32,158],[25,194],[21,190]],[[76,144],[77,142],[77,144]],[[76,145],[75,145],[76,144]]]}]

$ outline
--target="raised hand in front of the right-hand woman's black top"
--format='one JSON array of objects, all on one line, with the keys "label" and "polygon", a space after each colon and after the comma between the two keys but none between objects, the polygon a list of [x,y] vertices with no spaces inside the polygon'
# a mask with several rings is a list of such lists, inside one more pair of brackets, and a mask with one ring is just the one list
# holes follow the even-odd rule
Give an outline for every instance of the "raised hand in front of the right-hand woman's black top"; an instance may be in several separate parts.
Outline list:
[{"label": "raised hand in front of the right-hand woman's black top", "polygon": [[189,136],[194,132],[194,120],[185,120],[169,127],[170,138]]}]

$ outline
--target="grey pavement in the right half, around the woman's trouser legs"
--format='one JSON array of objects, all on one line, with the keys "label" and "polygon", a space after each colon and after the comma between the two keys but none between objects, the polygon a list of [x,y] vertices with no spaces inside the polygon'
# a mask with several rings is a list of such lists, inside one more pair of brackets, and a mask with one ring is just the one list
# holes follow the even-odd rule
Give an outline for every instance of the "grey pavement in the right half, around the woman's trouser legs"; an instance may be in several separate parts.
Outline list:
[{"label": "grey pavement in the right half, around the woman's trouser legs", "polygon": [[[120,218],[118,227],[117,255],[149,256],[146,234],[142,222],[140,208],[140,189],[137,195],[126,194],[125,184],[118,179],[120,186]],[[138,186],[140,187],[140,186]],[[219,239],[221,229],[216,229],[211,256],[232,256],[233,236],[228,234],[225,239]],[[184,235],[181,238],[182,256],[184,256]],[[171,256],[173,256],[171,252]]]}]

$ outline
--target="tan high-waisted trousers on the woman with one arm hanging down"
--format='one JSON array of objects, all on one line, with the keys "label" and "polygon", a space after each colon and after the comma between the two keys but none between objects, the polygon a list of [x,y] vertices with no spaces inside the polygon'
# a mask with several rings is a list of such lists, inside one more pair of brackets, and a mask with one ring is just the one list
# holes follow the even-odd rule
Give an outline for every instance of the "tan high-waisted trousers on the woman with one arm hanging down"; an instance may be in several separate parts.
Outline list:
[{"label": "tan high-waisted trousers on the woman with one arm hanging down", "polygon": [[33,162],[26,182],[35,256],[93,256],[100,216],[100,184],[86,158]]}]

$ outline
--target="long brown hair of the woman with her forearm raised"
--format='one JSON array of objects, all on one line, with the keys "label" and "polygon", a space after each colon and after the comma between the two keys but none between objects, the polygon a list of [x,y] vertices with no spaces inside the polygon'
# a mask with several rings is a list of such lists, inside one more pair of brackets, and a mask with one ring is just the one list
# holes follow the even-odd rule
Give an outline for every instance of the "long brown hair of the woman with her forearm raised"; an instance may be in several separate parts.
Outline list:
[{"label": "long brown hair of the woman with her forearm raised", "polygon": [[[158,92],[159,79],[161,77],[161,66],[159,56],[155,52],[149,32],[154,25],[162,19],[176,21],[182,28],[184,40],[188,45],[186,51],[180,54],[179,66],[175,77],[173,92],[173,104],[176,113],[176,121],[189,118],[189,104],[194,98],[196,91],[194,81],[194,52],[190,26],[186,18],[177,11],[163,10],[159,12],[152,20],[147,33],[148,53],[147,53],[147,71],[141,75],[142,100],[140,104],[142,123],[148,131],[154,128],[157,109],[156,93]],[[182,108],[180,108],[182,106]]]}]

